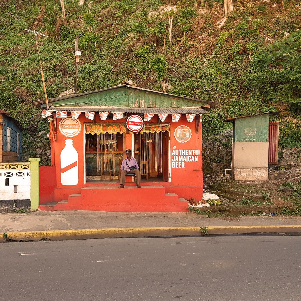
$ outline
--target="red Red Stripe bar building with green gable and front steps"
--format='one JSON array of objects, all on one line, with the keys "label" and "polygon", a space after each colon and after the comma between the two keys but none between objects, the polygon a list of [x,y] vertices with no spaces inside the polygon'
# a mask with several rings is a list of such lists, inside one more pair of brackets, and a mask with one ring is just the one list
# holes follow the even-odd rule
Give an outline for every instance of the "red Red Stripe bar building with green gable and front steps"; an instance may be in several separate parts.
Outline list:
[{"label": "red Red Stripe bar building with green gable and front steps", "polygon": [[[213,103],[127,84],[34,104],[50,122],[41,210],[185,211],[202,199],[202,114]],[[141,170],[118,189],[125,150]]]}]

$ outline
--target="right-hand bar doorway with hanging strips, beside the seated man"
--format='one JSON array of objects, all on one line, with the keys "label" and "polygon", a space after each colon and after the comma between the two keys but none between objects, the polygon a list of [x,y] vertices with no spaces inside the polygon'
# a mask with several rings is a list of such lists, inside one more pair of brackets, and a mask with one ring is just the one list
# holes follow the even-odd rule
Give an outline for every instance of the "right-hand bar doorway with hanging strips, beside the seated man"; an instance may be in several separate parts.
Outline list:
[{"label": "right-hand bar doorway with hanging strips, beside the seated man", "polygon": [[169,181],[168,132],[136,133],[135,158],[141,171],[141,181]]}]

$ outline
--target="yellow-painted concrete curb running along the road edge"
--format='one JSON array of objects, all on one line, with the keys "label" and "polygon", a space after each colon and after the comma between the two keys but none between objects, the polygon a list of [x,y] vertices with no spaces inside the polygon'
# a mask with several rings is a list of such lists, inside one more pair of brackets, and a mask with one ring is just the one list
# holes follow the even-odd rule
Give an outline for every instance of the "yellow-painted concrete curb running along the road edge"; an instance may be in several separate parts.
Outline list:
[{"label": "yellow-painted concrete curb running along the road edge", "polygon": [[[301,225],[208,227],[207,234],[301,233]],[[8,232],[9,241],[78,240],[93,238],[166,237],[202,235],[200,227],[108,228]],[[0,237],[0,242],[5,239]]]}]

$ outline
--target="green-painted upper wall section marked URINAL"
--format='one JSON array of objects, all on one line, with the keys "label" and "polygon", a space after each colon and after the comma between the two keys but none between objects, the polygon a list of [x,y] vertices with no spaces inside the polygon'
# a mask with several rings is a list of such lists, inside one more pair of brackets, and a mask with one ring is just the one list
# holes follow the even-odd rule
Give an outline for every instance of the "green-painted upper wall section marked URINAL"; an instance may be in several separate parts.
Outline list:
[{"label": "green-painted upper wall section marked URINAL", "polygon": [[234,141],[268,142],[268,115],[235,119]]}]

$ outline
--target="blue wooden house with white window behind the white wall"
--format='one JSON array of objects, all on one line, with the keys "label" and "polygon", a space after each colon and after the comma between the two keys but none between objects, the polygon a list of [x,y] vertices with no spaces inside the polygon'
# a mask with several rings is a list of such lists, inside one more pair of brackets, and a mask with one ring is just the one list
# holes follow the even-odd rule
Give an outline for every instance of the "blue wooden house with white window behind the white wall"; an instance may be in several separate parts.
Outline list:
[{"label": "blue wooden house with white window behind the white wall", "polygon": [[22,162],[22,126],[1,109],[0,162]]}]

